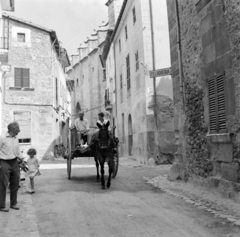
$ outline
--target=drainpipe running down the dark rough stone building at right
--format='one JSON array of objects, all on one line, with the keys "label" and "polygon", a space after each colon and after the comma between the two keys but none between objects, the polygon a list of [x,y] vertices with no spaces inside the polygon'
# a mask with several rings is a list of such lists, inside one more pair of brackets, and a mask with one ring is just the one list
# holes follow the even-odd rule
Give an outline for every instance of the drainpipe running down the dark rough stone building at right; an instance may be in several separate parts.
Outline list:
[{"label": "drainpipe running down the dark rough stone building at right", "polygon": [[175,12],[177,18],[177,47],[178,47],[178,67],[179,67],[179,83],[180,93],[182,94],[183,112],[185,112],[185,85],[182,71],[182,47],[181,47],[181,29],[180,29],[180,18],[178,10],[178,0],[175,0]]}]

